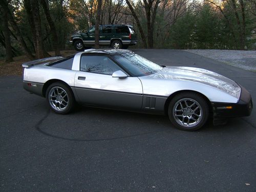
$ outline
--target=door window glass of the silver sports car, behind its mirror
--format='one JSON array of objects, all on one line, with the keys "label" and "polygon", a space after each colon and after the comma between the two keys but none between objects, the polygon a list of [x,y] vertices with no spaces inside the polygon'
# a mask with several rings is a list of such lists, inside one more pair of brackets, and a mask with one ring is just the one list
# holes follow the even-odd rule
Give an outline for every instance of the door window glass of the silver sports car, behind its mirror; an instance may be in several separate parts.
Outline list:
[{"label": "door window glass of the silver sports car, behind its mirror", "polygon": [[121,68],[106,56],[84,55],[81,57],[80,71],[112,75],[118,70],[121,70]]}]

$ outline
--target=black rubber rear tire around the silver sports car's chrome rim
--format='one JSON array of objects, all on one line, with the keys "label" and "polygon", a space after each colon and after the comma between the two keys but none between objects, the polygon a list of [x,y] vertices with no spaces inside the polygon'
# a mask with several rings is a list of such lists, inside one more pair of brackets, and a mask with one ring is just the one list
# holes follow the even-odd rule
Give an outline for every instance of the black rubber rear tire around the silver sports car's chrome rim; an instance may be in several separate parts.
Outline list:
[{"label": "black rubber rear tire around the silver sports car's chrome rim", "polygon": [[[52,88],[54,87],[60,87],[62,88],[63,90],[66,91],[66,93],[68,94],[68,98],[69,98],[69,103],[67,105],[67,108],[63,111],[57,111],[55,110],[54,108],[52,108],[51,104],[50,104],[50,101],[49,101],[49,93],[51,91]],[[47,103],[50,107],[50,109],[57,113],[57,114],[68,114],[69,112],[72,111],[73,107],[74,107],[74,96],[73,96],[73,93],[71,91],[71,89],[66,86],[66,84],[64,83],[61,83],[61,82],[55,82],[55,83],[52,83],[48,88],[47,88],[47,91],[46,91],[46,100],[47,100]]]}]

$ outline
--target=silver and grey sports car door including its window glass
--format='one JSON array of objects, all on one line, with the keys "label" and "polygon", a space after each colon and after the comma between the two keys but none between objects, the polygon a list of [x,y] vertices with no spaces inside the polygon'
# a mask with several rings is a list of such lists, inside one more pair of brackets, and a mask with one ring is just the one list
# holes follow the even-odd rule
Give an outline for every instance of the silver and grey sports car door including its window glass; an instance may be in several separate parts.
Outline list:
[{"label": "silver and grey sports car door including its window glass", "polygon": [[79,102],[117,109],[141,109],[141,81],[138,77],[112,77],[118,70],[122,69],[105,55],[82,55],[74,83]]}]

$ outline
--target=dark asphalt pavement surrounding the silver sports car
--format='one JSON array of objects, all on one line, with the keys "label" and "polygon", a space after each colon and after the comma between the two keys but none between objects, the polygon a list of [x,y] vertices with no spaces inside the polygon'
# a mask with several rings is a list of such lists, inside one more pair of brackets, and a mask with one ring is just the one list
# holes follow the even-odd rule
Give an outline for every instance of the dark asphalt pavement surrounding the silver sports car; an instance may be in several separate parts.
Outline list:
[{"label": "dark asphalt pavement surrounding the silver sports car", "polygon": [[[218,72],[256,101],[256,73],[179,50],[136,52]],[[0,77],[0,93],[1,191],[256,191],[255,108],[184,132],[157,115],[83,107],[56,115],[20,76]]]}]

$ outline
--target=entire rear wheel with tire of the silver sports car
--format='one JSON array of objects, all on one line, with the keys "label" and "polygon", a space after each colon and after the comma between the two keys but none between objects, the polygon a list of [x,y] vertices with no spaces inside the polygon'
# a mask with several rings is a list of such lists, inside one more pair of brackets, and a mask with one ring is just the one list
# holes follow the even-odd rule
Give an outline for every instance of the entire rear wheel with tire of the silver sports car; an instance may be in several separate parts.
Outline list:
[{"label": "entire rear wheel with tire of the silver sports car", "polygon": [[71,89],[62,82],[52,83],[46,90],[50,109],[57,114],[67,114],[74,108],[75,100]]}]

